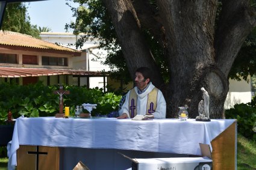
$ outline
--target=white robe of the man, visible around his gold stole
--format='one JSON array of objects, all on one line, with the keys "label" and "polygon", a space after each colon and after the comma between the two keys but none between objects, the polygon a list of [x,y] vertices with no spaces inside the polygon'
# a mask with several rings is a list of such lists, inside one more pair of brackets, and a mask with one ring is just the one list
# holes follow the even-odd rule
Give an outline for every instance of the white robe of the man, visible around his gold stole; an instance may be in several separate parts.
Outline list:
[{"label": "white robe of the man, visible around his gold stole", "polygon": [[[150,82],[148,89],[142,93],[138,94],[138,88],[134,87],[134,90],[137,94],[137,115],[146,115],[147,103],[148,103],[148,94],[155,88],[155,86]],[[127,114],[128,118],[130,118],[129,114],[129,97],[131,90],[128,91],[125,97],[125,103],[123,103],[122,109],[119,111],[119,115]],[[154,118],[166,118],[166,101],[164,100],[163,93],[158,90],[157,93],[157,108],[155,108],[155,112],[152,113]]]}]

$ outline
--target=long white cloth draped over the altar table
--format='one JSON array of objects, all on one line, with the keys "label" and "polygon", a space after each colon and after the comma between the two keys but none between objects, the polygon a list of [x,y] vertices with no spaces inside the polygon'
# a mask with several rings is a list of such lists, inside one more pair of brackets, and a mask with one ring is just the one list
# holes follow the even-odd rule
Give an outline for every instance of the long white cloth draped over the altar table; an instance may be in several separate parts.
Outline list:
[{"label": "long white cloth draped over the altar table", "polygon": [[208,144],[236,120],[210,122],[116,118],[17,118],[8,150],[9,165],[16,165],[19,145],[111,148],[160,153],[201,155],[199,143]]}]

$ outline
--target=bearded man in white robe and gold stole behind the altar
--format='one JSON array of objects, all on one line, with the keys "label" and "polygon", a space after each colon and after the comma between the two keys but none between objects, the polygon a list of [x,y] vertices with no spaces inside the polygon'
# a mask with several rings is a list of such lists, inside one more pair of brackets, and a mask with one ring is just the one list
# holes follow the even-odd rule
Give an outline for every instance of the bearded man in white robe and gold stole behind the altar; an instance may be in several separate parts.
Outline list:
[{"label": "bearded man in white robe and gold stole behind the altar", "polygon": [[119,111],[119,119],[133,118],[136,115],[153,115],[166,118],[166,101],[163,93],[150,82],[151,70],[140,67],[136,70],[136,87],[128,91],[125,102]]}]

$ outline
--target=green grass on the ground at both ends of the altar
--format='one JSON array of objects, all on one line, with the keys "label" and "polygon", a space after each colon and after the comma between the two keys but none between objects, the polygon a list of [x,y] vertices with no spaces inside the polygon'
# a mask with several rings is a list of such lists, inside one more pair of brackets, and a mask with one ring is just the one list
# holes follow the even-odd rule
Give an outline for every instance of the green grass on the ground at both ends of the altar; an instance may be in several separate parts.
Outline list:
[{"label": "green grass on the ground at both ends of the altar", "polygon": [[[7,170],[7,158],[0,158],[0,170]],[[256,170],[256,142],[237,135],[237,170]]]}]

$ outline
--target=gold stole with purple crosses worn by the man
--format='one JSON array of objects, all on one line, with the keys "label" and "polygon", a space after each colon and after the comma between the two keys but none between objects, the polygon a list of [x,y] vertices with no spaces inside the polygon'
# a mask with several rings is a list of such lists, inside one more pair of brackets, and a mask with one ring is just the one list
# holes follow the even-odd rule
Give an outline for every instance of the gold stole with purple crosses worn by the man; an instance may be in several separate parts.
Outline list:
[{"label": "gold stole with purple crosses worn by the man", "polygon": [[[147,108],[146,108],[146,114],[152,114],[155,112],[155,109],[157,108],[157,93],[158,88],[154,88],[149,94],[148,94],[148,102],[147,102]],[[129,114],[130,118],[134,118],[137,115],[137,94],[134,90],[134,88],[130,92],[129,96]]]}]

